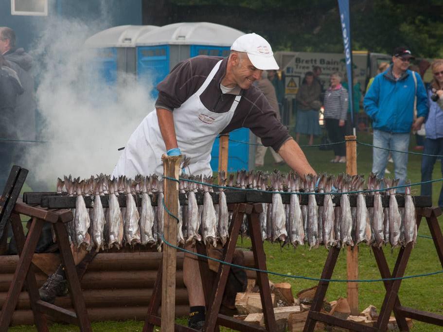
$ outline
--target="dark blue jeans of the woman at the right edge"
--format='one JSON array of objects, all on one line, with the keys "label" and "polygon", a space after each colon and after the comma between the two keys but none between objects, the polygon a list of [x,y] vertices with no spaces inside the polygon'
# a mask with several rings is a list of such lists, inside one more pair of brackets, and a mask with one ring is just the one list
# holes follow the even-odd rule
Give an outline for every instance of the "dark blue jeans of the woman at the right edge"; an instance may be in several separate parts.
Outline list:
[{"label": "dark blue jeans of the woman at the right edge", "polygon": [[[424,154],[428,155],[443,155],[443,138],[431,140],[425,139],[425,150]],[[422,157],[422,182],[429,181],[432,179],[432,171],[434,170],[434,164],[437,161],[437,157]],[[441,170],[443,175],[443,159],[441,159]],[[442,176],[443,177],[443,176]],[[432,183],[422,184],[422,196],[432,197]],[[439,207],[443,208],[443,186],[440,190],[439,196]]]}]

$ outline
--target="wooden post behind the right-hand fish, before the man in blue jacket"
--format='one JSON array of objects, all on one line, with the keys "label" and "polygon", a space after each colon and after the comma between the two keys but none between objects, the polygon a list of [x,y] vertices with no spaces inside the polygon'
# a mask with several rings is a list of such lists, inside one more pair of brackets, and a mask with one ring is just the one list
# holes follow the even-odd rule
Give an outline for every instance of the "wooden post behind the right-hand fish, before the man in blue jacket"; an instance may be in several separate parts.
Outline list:
[{"label": "wooden post behind the right-hand fish, before the man in blue jacket", "polygon": [[[346,173],[357,174],[357,141],[355,136],[345,136],[346,140]],[[346,252],[348,279],[358,279],[358,246],[348,246]],[[358,283],[348,282],[348,303],[351,315],[358,315]]]}]

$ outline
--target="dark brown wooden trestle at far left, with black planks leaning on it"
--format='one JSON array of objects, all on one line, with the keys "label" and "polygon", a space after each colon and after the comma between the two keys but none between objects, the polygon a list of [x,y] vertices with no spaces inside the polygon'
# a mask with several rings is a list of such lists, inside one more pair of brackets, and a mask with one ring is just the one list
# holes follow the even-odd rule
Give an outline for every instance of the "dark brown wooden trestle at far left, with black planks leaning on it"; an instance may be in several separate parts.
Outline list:
[{"label": "dark brown wooden trestle at far left, with black planks leaning on it", "polygon": [[[28,171],[26,169],[13,166],[3,195],[1,196],[0,225],[7,225],[7,220],[11,219],[14,237],[17,242],[19,260],[13,281],[9,287],[3,307],[1,308],[0,332],[8,331],[9,323],[11,322],[23,285],[26,285],[29,293],[35,325],[39,332],[49,331],[45,314],[51,315],[57,320],[78,325],[81,331],[91,331],[80,281],[78,280],[72,258],[68,233],[64,225],[72,220],[72,212],[70,210],[43,210],[18,203],[18,195],[27,174]],[[20,214],[32,218],[31,227],[26,237],[23,232]],[[75,313],[42,301],[38,295],[34,271],[35,266],[32,263],[32,258],[44,222],[51,222],[53,224],[58,239],[61,260],[65,266],[66,278],[70,288],[69,294]],[[4,229],[4,231],[7,230]]]}]

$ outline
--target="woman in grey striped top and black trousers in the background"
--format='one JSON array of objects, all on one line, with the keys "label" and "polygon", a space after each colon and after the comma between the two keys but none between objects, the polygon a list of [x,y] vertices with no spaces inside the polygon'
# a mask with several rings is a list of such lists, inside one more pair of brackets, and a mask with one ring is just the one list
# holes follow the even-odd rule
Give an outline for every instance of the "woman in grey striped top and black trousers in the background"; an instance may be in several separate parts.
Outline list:
[{"label": "woman in grey striped top and black trousers in the background", "polygon": [[[346,114],[348,112],[348,91],[341,85],[341,75],[334,72],[330,77],[331,86],[324,96],[324,121],[332,143],[344,140]],[[331,162],[346,162],[345,144],[333,145],[335,158]]]}]

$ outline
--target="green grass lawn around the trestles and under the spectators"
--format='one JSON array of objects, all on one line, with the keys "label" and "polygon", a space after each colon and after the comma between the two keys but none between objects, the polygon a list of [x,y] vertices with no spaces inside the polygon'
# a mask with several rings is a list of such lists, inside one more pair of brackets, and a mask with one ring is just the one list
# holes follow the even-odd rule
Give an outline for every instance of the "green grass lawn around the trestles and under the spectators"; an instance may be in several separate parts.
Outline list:
[{"label": "green grass lawn around the trestles and under the spectators", "polygon": [[[358,140],[372,143],[372,136],[370,134],[359,133]],[[415,142],[411,138],[412,142]],[[411,146],[412,145],[411,142]],[[306,144],[307,140],[303,137],[301,144]],[[319,143],[319,140],[315,144]],[[318,148],[304,148],[303,149],[308,160],[317,172],[327,172],[329,174],[338,174],[345,171],[345,164],[332,164],[329,160],[333,158],[332,151],[320,151]],[[266,154],[264,170],[273,170],[273,160],[268,152]],[[408,178],[411,182],[420,182],[420,156],[409,156],[408,162]],[[357,171],[359,174],[368,176],[372,167],[372,149],[357,145]],[[280,167],[281,171],[289,170],[287,166]],[[389,164],[388,169],[392,172],[393,165]],[[433,178],[441,178],[440,165],[436,163]],[[437,205],[438,194],[441,188],[440,183],[433,185],[433,204]],[[419,195],[420,188],[415,187],[413,194]],[[425,220],[419,229],[419,234],[430,235],[429,229]],[[239,241],[239,245],[248,247],[250,241],[244,239]],[[394,249],[391,252],[390,246],[385,247],[385,254],[392,269],[395,258],[399,249]],[[287,274],[288,277],[270,276],[269,279],[273,282],[287,281],[292,284],[294,294],[301,289],[315,286],[315,281],[300,280],[290,278],[290,276],[308,276],[319,278],[323,264],[326,260],[327,251],[324,248],[309,250],[305,246],[297,249],[292,247],[280,248],[278,244],[265,243],[265,251],[267,255],[267,268],[270,271],[275,271]],[[380,274],[378,272],[375,259],[368,246],[361,245],[359,247],[359,279],[378,279]],[[434,248],[432,240],[425,238],[418,238],[415,248],[412,250],[408,267],[405,275],[421,274],[426,272],[434,272],[441,270],[442,266],[438,261],[438,256]],[[337,266],[332,276],[334,279],[346,279],[346,252],[342,251],[337,261]],[[385,295],[384,287],[381,282],[362,282],[358,284],[359,288],[359,309],[363,310],[370,304],[375,305],[379,310]],[[338,297],[346,297],[346,283],[334,282],[331,283],[326,294],[329,301],[335,300]],[[436,275],[424,278],[416,278],[402,281],[402,286],[399,291],[399,298],[402,305],[414,307],[420,310],[432,311],[437,314],[443,314],[443,275]],[[181,324],[185,324],[185,319],[177,320]],[[142,322],[99,322],[92,323],[94,331],[141,331]],[[230,331],[228,329],[221,329],[222,331]],[[15,327],[10,331],[35,331],[31,327]],[[51,331],[77,331],[76,327],[67,325],[53,325]],[[412,329],[414,332],[428,332],[428,331],[442,331],[441,327],[428,325],[425,323],[414,322]]]}]

